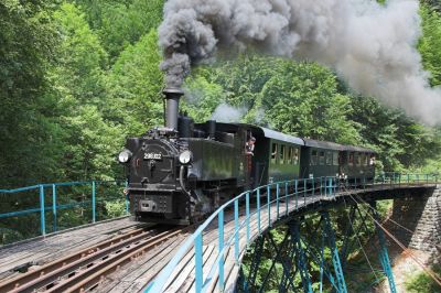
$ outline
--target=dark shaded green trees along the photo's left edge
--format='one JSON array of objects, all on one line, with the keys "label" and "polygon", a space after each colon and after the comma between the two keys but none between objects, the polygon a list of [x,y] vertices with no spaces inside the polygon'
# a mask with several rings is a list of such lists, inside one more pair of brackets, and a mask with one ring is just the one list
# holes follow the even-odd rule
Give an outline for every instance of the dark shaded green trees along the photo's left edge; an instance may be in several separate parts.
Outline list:
[{"label": "dark shaded green trees along the photo's left edge", "polygon": [[[56,173],[60,132],[45,99],[45,76],[57,40],[51,1],[0,3],[0,184],[43,180]],[[44,172],[44,173],[43,173]]]}]

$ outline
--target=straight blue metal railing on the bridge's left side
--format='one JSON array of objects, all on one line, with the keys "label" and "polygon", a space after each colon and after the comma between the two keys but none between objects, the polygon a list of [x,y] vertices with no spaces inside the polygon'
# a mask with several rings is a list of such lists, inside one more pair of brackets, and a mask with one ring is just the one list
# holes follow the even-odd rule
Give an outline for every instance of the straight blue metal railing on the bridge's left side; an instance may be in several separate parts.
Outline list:
[{"label": "straight blue metal railing on the bridge's left side", "polygon": [[[49,230],[51,232],[60,230],[57,223],[61,210],[72,210],[78,207],[87,209],[90,213],[87,213],[88,216],[83,216],[90,217],[87,220],[88,223],[96,223],[98,204],[105,204],[110,200],[123,200],[125,210],[122,214],[128,214],[128,196],[122,193],[125,186],[126,181],[116,180],[50,183],[14,189],[0,189],[0,197],[2,197],[0,228],[19,232],[14,228],[11,229],[11,226],[17,226],[22,220],[23,224],[21,226],[25,227],[28,225],[26,220],[34,221],[36,219],[40,220],[39,235],[45,236]],[[52,219],[51,228],[46,226],[47,218]],[[85,224],[84,220],[80,224]],[[36,234],[33,236],[36,236]],[[8,241],[1,241],[3,245],[6,242]]]}]

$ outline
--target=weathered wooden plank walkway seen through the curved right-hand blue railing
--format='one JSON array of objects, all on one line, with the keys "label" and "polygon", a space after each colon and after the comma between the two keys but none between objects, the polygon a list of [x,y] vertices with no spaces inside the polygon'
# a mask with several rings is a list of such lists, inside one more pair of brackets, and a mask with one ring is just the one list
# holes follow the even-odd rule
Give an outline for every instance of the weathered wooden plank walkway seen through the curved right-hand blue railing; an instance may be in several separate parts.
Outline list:
[{"label": "weathered wooden plank walkway seen through the curved right-hand blue railing", "polygon": [[[292,215],[295,215],[295,213],[300,213],[302,210],[309,210],[315,206],[320,205],[326,205],[326,204],[333,204],[342,200],[343,198],[346,198],[347,203],[353,203],[349,195],[359,195],[362,197],[374,197],[378,199],[383,198],[392,198],[394,195],[388,192],[392,192],[394,194],[397,193],[397,191],[411,191],[416,188],[433,188],[435,185],[434,184],[402,184],[399,186],[375,186],[366,189],[356,189],[356,191],[348,191],[348,192],[342,192],[336,194],[333,197],[329,197],[325,195],[315,195],[315,196],[308,196],[303,198],[301,195],[299,196],[299,199],[295,200],[295,198],[291,198],[288,200],[288,208],[287,208],[287,203],[286,202],[280,202],[279,203],[279,210],[277,209],[277,204],[272,204],[270,207],[270,213],[267,211],[267,209],[261,210],[260,214],[260,223],[261,227],[260,230],[265,231],[268,229],[269,225],[273,226],[277,224],[282,223],[284,219],[288,219]],[[263,206],[265,203],[261,204]],[[249,231],[249,237],[250,239],[255,239],[259,236],[259,230],[258,230],[258,220],[257,220],[257,214],[255,214],[256,207],[251,208],[250,207],[250,231]],[[287,216],[289,215],[289,216]],[[245,208],[241,207],[239,210],[239,223],[243,223],[246,219],[245,215]],[[224,235],[225,235],[225,242],[230,237],[234,237],[235,234],[235,220],[234,220],[234,215],[233,211],[226,213],[225,215],[225,226],[224,226]],[[241,262],[243,257],[245,256],[247,251],[247,239],[246,239],[246,229],[245,227],[240,229],[239,232],[239,262]],[[252,242],[252,241],[251,241]],[[217,230],[217,220],[209,226],[206,232],[203,235],[203,280],[206,280],[206,278],[209,275],[209,269],[213,267],[215,268],[215,272],[212,274],[212,280],[214,282],[211,282],[208,286],[204,286],[206,292],[219,292],[218,290],[218,271],[217,271],[217,254],[218,254],[218,230]],[[240,263],[236,263],[235,261],[235,248],[234,248],[234,241],[232,242],[232,246],[228,247],[227,252],[225,253],[225,272],[224,272],[224,279],[225,279],[225,289],[224,292],[234,292],[239,269],[240,269]],[[192,247],[187,252],[186,256],[181,260],[179,265],[175,267],[173,273],[168,280],[168,283],[165,285],[165,292],[195,292],[195,250],[194,247]]]}]

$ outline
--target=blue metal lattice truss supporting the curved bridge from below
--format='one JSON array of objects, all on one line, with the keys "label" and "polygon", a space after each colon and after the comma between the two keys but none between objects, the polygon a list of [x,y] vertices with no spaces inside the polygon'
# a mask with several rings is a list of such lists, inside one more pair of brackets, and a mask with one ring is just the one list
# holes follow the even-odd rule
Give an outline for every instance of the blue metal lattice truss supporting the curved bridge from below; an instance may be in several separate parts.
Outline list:
[{"label": "blue metal lattice truss supporting the curved bridge from below", "polygon": [[[238,292],[347,292],[344,275],[347,259],[353,249],[361,245],[357,235],[363,229],[368,230],[366,220],[372,219],[368,216],[357,205],[348,206],[348,221],[345,221],[344,234],[338,238],[342,240],[338,242],[343,242],[340,248],[327,210],[320,211],[314,220],[302,217],[289,221],[278,239],[271,231],[260,236],[248,254],[250,265],[240,271]],[[378,227],[377,234],[380,263],[395,293],[386,239]]]}]

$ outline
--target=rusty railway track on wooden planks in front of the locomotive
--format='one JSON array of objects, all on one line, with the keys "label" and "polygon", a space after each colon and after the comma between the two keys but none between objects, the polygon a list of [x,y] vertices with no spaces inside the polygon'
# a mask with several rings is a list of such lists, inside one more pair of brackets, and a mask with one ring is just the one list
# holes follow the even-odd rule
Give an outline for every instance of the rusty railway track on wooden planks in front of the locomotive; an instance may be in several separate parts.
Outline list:
[{"label": "rusty railway track on wooden planks in front of the locomotive", "polygon": [[0,283],[0,293],[89,291],[106,275],[189,230],[190,227],[168,229],[160,226],[137,229],[6,280]]}]

